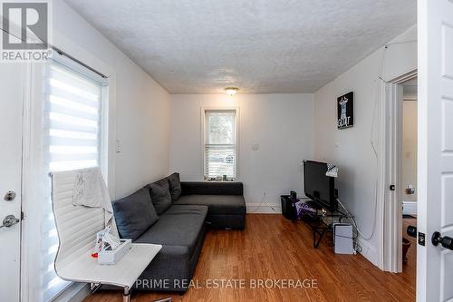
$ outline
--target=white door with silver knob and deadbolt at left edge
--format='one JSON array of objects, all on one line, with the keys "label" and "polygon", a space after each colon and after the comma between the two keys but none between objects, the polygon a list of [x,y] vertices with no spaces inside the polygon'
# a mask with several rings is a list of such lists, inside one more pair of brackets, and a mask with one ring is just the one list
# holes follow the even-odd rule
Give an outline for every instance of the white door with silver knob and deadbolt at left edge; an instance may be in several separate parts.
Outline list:
[{"label": "white door with silver knob and deadbolt at left edge", "polygon": [[20,293],[24,71],[24,63],[0,63],[0,301],[11,302]]}]

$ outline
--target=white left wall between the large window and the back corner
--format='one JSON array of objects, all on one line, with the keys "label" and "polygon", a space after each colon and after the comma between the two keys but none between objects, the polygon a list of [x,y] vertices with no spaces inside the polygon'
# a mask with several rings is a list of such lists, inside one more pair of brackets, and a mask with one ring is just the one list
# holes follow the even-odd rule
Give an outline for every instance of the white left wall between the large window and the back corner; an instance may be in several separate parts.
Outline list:
[{"label": "white left wall between the large window and the back corner", "polygon": [[166,176],[169,93],[63,1],[53,1],[53,12],[53,44],[111,78],[111,195],[123,197]]}]

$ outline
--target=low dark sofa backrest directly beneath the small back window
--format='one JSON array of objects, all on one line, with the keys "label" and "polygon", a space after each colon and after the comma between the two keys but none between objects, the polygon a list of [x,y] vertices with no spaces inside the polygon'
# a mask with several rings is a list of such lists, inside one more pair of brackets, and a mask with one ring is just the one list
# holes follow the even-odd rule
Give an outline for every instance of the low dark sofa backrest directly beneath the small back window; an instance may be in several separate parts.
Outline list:
[{"label": "low dark sofa backrest directly beneath the small back window", "polygon": [[242,182],[181,181],[182,195],[244,195]]}]

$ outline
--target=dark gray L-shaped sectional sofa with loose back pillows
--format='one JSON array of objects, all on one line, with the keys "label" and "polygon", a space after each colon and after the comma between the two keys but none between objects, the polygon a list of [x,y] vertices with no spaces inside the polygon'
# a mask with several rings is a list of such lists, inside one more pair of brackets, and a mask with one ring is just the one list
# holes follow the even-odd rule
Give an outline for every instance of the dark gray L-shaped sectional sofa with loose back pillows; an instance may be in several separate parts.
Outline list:
[{"label": "dark gray L-shaped sectional sofa with loose back pillows", "polygon": [[178,173],[113,202],[121,238],[163,247],[136,283],[139,290],[188,290],[207,229],[244,229],[241,182],[181,182]]}]

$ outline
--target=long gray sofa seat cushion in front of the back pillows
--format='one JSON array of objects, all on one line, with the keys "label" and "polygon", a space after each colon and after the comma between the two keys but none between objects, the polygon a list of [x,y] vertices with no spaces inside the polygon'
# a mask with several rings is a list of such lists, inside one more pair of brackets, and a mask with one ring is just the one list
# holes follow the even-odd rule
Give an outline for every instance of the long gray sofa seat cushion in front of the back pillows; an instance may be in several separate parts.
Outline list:
[{"label": "long gray sofa seat cushion in front of the back pillows", "polygon": [[205,206],[173,205],[135,242],[188,247],[192,255],[206,216]]}]

